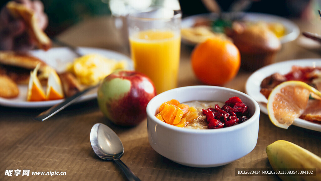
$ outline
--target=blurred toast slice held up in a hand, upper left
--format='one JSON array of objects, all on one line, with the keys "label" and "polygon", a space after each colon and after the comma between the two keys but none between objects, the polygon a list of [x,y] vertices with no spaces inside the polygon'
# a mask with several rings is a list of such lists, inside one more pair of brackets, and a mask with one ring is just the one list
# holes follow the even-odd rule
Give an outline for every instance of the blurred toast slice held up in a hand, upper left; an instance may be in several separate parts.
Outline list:
[{"label": "blurred toast slice held up in a hand, upper left", "polygon": [[14,17],[20,18],[25,22],[28,34],[37,43],[38,48],[48,50],[51,47],[51,40],[47,34],[39,28],[37,16],[33,10],[13,1],[8,2],[6,7]]}]

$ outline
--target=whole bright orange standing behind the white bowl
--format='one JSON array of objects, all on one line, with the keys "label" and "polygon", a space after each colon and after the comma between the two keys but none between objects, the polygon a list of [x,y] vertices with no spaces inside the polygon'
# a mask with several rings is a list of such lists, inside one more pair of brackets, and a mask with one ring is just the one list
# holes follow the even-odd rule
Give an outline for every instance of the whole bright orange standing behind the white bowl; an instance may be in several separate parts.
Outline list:
[{"label": "whole bright orange standing behind the white bowl", "polygon": [[208,85],[222,85],[239,72],[239,49],[228,39],[213,37],[198,44],[191,54],[196,77]]}]

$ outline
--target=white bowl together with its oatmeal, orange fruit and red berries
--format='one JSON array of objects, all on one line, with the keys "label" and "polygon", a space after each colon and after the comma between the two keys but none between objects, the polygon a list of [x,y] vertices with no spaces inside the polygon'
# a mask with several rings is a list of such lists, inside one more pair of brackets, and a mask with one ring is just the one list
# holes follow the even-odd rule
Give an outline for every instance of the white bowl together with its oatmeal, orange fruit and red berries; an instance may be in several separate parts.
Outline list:
[{"label": "white bowl together with its oatmeal, orange fruit and red berries", "polygon": [[[177,108],[174,116],[168,113],[171,105]],[[223,110],[228,112],[227,116]],[[217,86],[180,87],[155,96],[146,111],[150,145],[160,155],[181,165],[226,165],[256,146],[259,105],[237,90]],[[210,111],[215,115],[213,118],[207,114],[212,115]]]}]

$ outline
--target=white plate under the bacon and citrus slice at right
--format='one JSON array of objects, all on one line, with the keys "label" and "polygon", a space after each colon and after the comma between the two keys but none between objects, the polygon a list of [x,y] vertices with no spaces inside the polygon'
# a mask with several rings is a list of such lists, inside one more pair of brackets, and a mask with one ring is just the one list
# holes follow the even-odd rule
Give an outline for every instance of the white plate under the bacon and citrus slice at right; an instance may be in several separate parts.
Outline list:
[{"label": "white plate under the bacon and citrus slice at right", "polygon": [[[302,67],[321,67],[321,59],[299,59],[273,63],[253,72],[253,74],[247,79],[245,84],[245,91],[249,96],[257,101],[263,113],[268,114],[266,109],[267,99],[263,96],[263,94],[260,93],[261,82],[265,77],[270,76],[273,73],[279,72],[281,74],[286,74],[290,72],[293,65],[299,65]],[[321,131],[321,124],[313,123],[299,118],[294,120],[293,125],[315,131]]]}]

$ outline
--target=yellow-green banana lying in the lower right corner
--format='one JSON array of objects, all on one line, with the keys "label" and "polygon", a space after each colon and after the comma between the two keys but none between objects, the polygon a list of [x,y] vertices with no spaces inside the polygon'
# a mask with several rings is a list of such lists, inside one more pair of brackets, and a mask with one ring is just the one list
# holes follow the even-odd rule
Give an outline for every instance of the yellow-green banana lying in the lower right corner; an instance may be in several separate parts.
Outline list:
[{"label": "yellow-green banana lying in the lower right corner", "polygon": [[278,140],[267,146],[266,154],[273,170],[316,168],[316,176],[278,176],[283,181],[313,180],[321,181],[321,158],[298,145],[285,140]]}]

